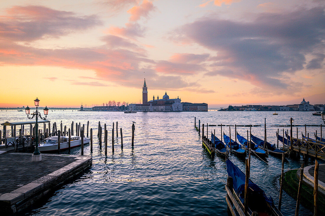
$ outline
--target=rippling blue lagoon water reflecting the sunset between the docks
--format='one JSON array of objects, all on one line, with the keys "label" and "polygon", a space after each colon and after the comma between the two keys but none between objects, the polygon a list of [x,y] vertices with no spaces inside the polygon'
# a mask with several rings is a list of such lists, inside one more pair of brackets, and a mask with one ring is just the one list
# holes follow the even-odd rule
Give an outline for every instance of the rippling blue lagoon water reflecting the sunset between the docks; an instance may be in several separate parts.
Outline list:
[{"label": "rippling blue lagoon water reflecting the sunset between the docks", "polygon": [[[63,126],[71,126],[72,121],[94,128],[94,147],[85,146],[85,155],[93,157],[91,168],[78,179],[58,188],[48,199],[42,200],[34,209],[22,212],[24,215],[226,215],[225,184],[227,172],[225,160],[212,159],[202,148],[201,137],[194,130],[194,116],[201,124],[264,125],[267,124],[267,140],[276,143],[275,132],[290,125],[290,117],[295,125],[321,124],[320,116],[312,112],[154,112],[124,114],[123,112],[76,112],[71,110],[49,112],[48,120],[62,120]],[[0,122],[26,120],[26,115],[17,111],[0,111]],[[105,148],[99,149],[97,138],[98,121],[109,129],[108,155]],[[123,128],[123,150],[120,148],[120,133],[116,138],[115,152],[111,152],[112,123],[118,121]],[[135,121],[135,146],[131,148],[132,121]],[[51,124],[52,126],[52,124]],[[43,128],[43,125],[40,126]],[[75,125],[74,125],[75,128]],[[19,128],[18,128],[19,129]],[[215,129],[221,138],[220,127]],[[248,127],[237,127],[242,136],[247,136]],[[284,129],[289,129],[284,127]],[[229,135],[229,127],[223,127]],[[298,127],[299,138],[305,127]],[[310,137],[320,127],[307,127]],[[296,129],[294,137],[296,136]],[[323,131],[324,132],[324,131]],[[206,133],[206,127],[205,127]],[[252,134],[264,138],[264,127],[252,127]],[[280,132],[280,134],[282,134]],[[234,138],[234,127],[231,136]],[[324,135],[323,135],[324,136]],[[104,136],[103,136],[104,139]],[[62,152],[68,154],[68,151]],[[71,154],[80,154],[74,148]],[[245,169],[245,161],[231,155],[230,159]],[[281,160],[270,156],[269,164],[256,157],[251,158],[251,179],[265,190],[267,196],[279,199],[279,176]],[[305,166],[313,164],[305,162]],[[301,161],[288,159],[285,168],[299,168]],[[274,167],[275,166],[275,167]],[[282,212],[293,215],[296,202],[283,192]],[[311,212],[300,206],[300,215]]]}]

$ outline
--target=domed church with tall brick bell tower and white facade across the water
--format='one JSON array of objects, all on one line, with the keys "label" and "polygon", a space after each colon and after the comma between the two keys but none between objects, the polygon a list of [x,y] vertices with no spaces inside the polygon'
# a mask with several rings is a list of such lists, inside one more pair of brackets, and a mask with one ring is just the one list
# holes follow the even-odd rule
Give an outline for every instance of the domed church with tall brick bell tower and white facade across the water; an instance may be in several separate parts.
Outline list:
[{"label": "domed church with tall brick bell tower and white facade across the water", "polygon": [[146,79],[144,80],[142,87],[142,104],[131,103],[129,104],[130,110],[144,111],[144,112],[180,112],[183,111],[183,105],[179,97],[170,99],[167,92],[162,96],[162,99],[155,99],[153,96],[151,101],[148,101],[148,88]]}]

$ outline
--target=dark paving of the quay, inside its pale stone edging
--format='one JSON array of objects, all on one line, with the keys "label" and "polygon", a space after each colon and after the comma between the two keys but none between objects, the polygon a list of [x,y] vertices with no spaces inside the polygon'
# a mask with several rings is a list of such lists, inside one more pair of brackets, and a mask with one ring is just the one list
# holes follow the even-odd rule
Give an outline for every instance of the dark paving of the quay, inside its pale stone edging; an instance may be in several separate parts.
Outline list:
[{"label": "dark paving of the quay, inside its pale stone edging", "polygon": [[50,174],[77,159],[42,154],[41,162],[32,162],[31,153],[8,153],[0,155],[0,195]]}]

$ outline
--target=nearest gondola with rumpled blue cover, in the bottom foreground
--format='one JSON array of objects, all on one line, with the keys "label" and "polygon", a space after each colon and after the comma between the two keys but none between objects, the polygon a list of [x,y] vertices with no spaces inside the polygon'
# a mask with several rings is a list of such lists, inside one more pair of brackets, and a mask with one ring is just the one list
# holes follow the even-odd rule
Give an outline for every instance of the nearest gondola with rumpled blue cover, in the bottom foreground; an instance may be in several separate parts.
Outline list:
[{"label": "nearest gondola with rumpled blue cover, in the bottom foreground", "polygon": [[[237,197],[238,204],[244,210],[245,198],[245,178],[246,175],[230,160],[226,161],[226,169],[228,176],[233,179],[233,192]],[[251,179],[248,180],[248,215],[253,212],[258,215],[283,216],[278,208],[274,205],[272,197],[267,197],[265,192]]]}]

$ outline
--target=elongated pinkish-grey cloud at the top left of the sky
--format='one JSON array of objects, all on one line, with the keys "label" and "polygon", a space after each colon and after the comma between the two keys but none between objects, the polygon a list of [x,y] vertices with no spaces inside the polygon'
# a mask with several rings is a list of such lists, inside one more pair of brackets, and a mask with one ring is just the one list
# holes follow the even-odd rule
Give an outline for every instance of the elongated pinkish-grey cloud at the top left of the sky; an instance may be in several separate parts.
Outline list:
[{"label": "elongated pinkish-grey cloud at the top left of the sky", "polygon": [[60,37],[101,24],[96,15],[77,16],[73,12],[44,6],[14,6],[0,18],[0,37],[10,41],[33,41]]}]

